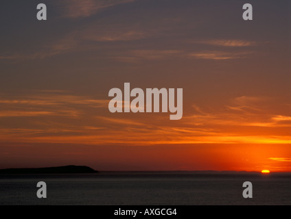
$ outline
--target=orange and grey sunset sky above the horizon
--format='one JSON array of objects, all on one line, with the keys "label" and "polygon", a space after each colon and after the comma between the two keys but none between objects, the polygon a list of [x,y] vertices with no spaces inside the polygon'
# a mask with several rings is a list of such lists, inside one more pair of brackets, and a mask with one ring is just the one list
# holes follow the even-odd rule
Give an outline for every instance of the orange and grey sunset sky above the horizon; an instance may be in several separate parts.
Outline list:
[{"label": "orange and grey sunset sky above the horizon", "polygon": [[[0,25],[0,168],[291,172],[290,1],[2,0]],[[183,88],[183,118],[110,113],[126,82]]]}]

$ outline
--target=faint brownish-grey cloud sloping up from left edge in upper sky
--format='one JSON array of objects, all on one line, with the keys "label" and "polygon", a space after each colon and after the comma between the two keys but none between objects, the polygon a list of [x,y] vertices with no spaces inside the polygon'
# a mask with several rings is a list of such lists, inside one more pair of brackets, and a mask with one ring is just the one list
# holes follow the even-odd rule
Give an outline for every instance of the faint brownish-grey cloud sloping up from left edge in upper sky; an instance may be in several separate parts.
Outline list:
[{"label": "faint brownish-grey cloud sloping up from left edge in upper sky", "polygon": [[[156,30],[145,31],[143,27],[140,27],[136,23],[129,23],[124,25],[123,23],[110,23],[108,21],[94,21],[86,27],[79,27],[78,29],[65,34],[60,39],[54,42],[47,42],[40,45],[37,50],[34,51],[16,51],[14,53],[2,53],[0,54],[0,60],[42,60],[54,55],[60,55],[63,53],[70,53],[73,51],[98,51],[94,49],[94,44],[97,42],[126,42],[131,40],[140,40],[148,38],[156,33]],[[89,47],[86,45],[90,44]],[[93,46],[92,46],[93,45]],[[102,47],[106,47],[102,45]],[[106,50],[102,57],[106,55]]]}]

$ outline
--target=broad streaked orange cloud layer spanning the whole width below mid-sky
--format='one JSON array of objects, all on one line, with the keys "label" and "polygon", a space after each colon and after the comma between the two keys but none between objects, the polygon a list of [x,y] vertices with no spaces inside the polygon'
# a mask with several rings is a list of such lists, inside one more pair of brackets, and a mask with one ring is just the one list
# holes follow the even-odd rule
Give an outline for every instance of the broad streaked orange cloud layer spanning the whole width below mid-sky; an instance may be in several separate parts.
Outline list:
[{"label": "broad streaked orange cloud layer spanning the whole width below mid-sky", "polygon": [[[0,140],[137,146],[291,144],[288,132],[284,128],[278,128],[279,124],[272,120],[286,120],[289,119],[288,116],[281,118],[248,110],[248,107],[256,108],[266,100],[268,99],[258,96],[239,96],[229,100],[233,107],[247,106],[241,107],[241,110],[233,110],[224,105],[221,109],[211,111],[193,105],[193,115],[185,115],[180,123],[173,124],[164,114],[132,114],[135,119],[128,119],[125,114],[108,116],[107,100],[68,94],[61,90],[46,90],[15,97],[3,94],[0,96],[0,118],[5,118],[3,121],[9,122],[10,126],[2,125],[1,129],[0,124]],[[96,107],[101,108],[97,114],[95,110],[99,109]],[[17,119],[11,118],[12,116]],[[29,118],[19,118],[21,116]],[[264,130],[260,131],[258,127],[262,126]],[[281,159],[283,160],[287,159]]]}]

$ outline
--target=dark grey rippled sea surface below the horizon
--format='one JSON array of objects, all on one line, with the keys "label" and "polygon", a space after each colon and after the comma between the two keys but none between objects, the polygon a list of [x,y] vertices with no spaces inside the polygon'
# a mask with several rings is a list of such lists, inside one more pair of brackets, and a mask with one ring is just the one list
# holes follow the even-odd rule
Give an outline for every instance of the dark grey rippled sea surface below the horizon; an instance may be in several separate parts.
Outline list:
[{"label": "dark grey rippled sea surface below the horizon", "polygon": [[[47,198],[37,198],[38,181],[47,183]],[[253,183],[253,198],[243,198],[244,181]],[[0,205],[291,205],[291,174],[0,175]]]}]

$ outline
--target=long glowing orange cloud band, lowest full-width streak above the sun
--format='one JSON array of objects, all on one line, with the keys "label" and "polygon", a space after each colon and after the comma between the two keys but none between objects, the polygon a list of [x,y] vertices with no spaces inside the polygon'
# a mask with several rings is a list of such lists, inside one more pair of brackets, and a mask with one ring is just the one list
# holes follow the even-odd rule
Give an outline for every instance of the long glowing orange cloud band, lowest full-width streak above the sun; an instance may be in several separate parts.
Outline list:
[{"label": "long glowing orange cloud band, lowest full-width streak above the sun", "polygon": [[[124,124],[123,122],[121,122]],[[128,125],[127,125],[128,126]],[[159,145],[159,144],[290,144],[290,137],[282,136],[245,136],[228,135],[224,133],[200,133],[187,129],[169,128],[139,128],[132,127],[114,130],[96,129],[95,132],[84,131],[78,127],[80,133],[49,133],[48,131],[40,135],[32,136],[31,132],[25,131],[21,136],[19,133],[0,133],[0,139],[10,139],[17,135],[17,142],[46,142],[65,144],[126,144],[126,145]],[[56,129],[58,131],[58,129]],[[94,131],[94,130],[93,130]],[[71,132],[71,131],[70,131]],[[38,132],[39,133],[39,132]],[[278,160],[277,160],[278,161]],[[280,161],[288,161],[281,159]]]}]

